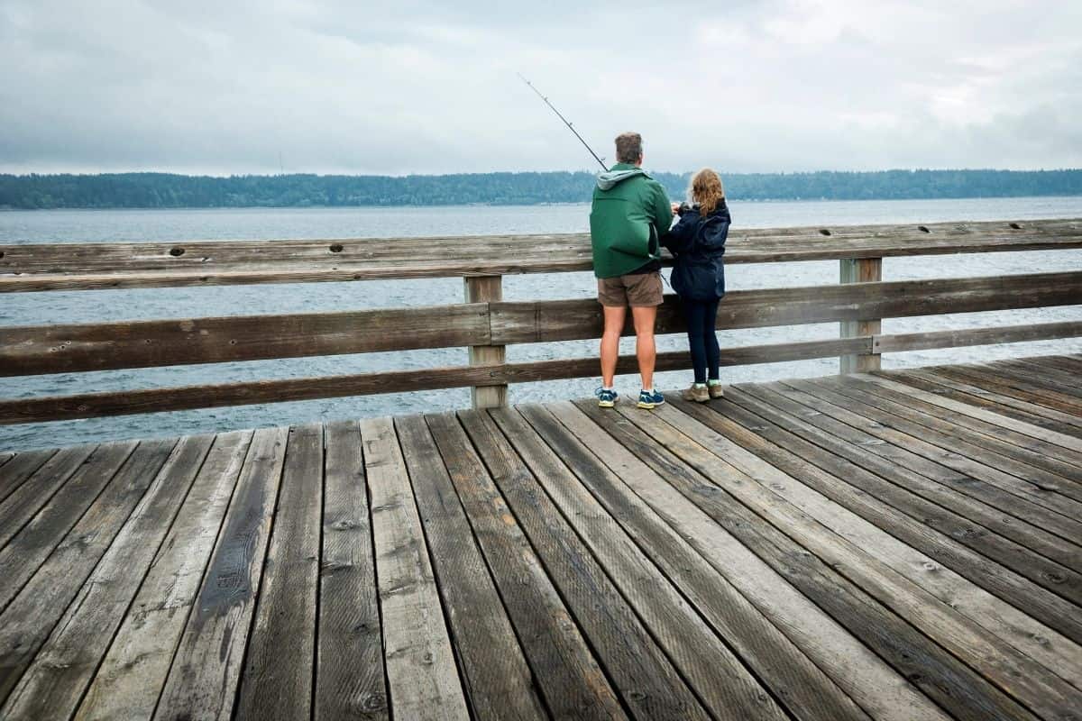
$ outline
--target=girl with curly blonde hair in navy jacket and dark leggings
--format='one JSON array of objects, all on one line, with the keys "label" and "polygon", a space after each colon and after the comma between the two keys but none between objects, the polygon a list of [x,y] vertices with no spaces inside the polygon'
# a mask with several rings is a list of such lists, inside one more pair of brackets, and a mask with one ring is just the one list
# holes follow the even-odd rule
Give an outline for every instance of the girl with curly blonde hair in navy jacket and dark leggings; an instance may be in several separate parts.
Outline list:
[{"label": "girl with curly blonde hair in navy jacket and dark leggings", "polygon": [[723,255],[731,217],[722,178],[713,170],[703,168],[691,176],[688,196],[694,203],[690,208],[673,203],[679,221],[661,242],[676,258],[672,284],[687,319],[687,341],[695,366],[695,383],[683,392],[683,398],[702,403],[724,395],[718,379],[720,350],[714,325],[717,303],[725,295]]}]

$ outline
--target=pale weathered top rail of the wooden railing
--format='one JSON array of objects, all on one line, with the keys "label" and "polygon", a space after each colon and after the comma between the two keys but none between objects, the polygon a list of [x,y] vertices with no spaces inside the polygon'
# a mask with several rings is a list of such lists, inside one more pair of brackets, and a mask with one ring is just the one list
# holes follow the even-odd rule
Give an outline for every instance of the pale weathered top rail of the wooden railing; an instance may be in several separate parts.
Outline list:
[{"label": "pale weathered top rail of the wooden railing", "polygon": [[[1082,224],[1076,219],[1000,221],[740,229],[730,233],[725,257],[728,264],[740,264],[1079,246]],[[8,244],[0,245],[0,292],[497,276],[592,268],[586,233]]]}]

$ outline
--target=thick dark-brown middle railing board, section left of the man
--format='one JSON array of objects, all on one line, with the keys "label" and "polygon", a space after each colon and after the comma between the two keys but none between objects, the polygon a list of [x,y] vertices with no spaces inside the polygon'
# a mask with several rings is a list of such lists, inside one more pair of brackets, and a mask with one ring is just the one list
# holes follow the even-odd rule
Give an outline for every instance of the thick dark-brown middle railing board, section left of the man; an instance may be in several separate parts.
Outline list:
[{"label": "thick dark-brown middle railing board, section left of the man", "polygon": [[0,329],[0,376],[484,345],[484,303]]}]

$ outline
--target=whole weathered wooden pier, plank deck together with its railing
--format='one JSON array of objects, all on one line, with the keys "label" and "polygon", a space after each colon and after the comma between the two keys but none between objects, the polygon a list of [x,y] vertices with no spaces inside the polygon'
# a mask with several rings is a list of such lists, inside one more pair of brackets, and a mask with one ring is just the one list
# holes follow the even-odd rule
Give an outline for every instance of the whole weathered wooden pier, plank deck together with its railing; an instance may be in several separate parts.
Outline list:
[{"label": "whole weathered wooden pier, plank deck together with its railing", "polygon": [[[818,379],[507,406],[595,358],[593,301],[500,278],[583,236],[0,245],[0,294],[464,279],[428,308],[0,328],[0,376],[469,348],[393,373],[0,399],[0,424],[470,386],[474,409],[0,451],[0,719],[1082,719],[1082,356],[880,370],[1082,336],[1082,272],[884,280],[899,255],[1082,248],[1082,222],[735,232],[729,263],[834,258],[735,291],[718,329],[837,322],[726,364]],[[630,329],[629,329],[630,330]],[[668,297],[658,332],[684,330]],[[686,353],[659,370],[686,369]],[[620,372],[633,372],[623,358]],[[724,371],[723,371],[724,373]],[[17,386],[8,386],[17,387]]]}]

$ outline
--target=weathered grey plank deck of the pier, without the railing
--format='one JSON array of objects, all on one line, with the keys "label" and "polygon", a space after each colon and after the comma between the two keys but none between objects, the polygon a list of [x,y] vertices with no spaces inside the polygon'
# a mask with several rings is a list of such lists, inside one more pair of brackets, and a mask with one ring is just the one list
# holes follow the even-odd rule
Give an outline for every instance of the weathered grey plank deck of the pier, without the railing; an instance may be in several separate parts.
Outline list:
[{"label": "weathered grey plank deck of the pier, without the railing", "polygon": [[4,719],[1070,719],[1082,357],[31,451]]}]

